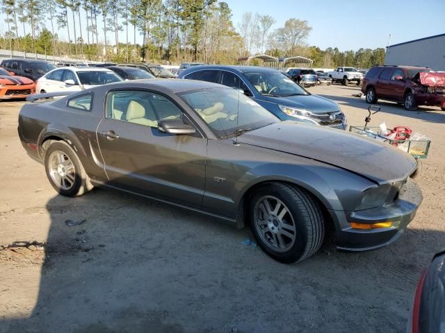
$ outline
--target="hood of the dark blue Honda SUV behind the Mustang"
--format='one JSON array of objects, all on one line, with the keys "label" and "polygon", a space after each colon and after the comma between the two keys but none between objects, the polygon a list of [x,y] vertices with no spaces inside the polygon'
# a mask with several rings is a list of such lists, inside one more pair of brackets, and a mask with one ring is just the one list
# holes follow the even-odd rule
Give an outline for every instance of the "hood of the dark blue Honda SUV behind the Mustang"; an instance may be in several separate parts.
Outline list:
[{"label": "hood of the dark blue Honda SUV behind the Mustang", "polygon": [[314,113],[336,112],[340,107],[334,101],[317,95],[298,95],[287,97],[262,96],[264,101],[290,106],[291,108],[307,109]]}]

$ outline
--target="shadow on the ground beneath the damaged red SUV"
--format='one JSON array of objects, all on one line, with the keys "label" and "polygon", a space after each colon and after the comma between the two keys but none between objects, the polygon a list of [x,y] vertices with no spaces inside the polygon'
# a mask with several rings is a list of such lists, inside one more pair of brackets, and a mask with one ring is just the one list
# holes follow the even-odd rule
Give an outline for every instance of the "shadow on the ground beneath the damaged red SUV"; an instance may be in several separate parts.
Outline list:
[{"label": "shadow on the ground beneath the damaged red SUV", "polygon": [[[336,101],[341,104],[350,105],[354,108],[367,109],[370,105],[366,103],[364,99],[353,96],[333,96],[327,94],[318,94],[318,96],[325,97],[326,99],[331,99],[332,101]],[[421,105],[416,111],[405,110],[402,106],[397,105],[394,102],[378,101],[378,103],[375,105],[380,106],[380,112],[382,113],[397,114],[403,117],[410,117],[430,123],[445,123],[445,112],[439,109],[428,108],[424,105]]]}]

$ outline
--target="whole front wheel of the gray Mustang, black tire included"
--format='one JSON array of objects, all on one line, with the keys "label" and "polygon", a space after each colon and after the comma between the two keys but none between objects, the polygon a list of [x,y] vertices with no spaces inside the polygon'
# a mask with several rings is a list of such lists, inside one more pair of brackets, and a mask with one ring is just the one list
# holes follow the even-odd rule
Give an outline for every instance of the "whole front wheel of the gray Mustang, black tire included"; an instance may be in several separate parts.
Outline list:
[{"label": "whole front wheel of the gray Mustang, black tire included", "polygon": [[249,217],[257,244],[279,262],[291,264],[306,259],[323,243],[321,207],[311,194],[298,187],[280,182],[259,187],[251,197]]}]

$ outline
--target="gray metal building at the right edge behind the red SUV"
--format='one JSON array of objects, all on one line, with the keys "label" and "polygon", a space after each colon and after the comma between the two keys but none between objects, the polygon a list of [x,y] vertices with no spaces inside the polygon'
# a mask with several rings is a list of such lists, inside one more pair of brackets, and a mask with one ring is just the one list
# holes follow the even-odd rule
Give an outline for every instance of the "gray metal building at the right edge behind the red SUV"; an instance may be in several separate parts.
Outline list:
[{"label": "gray metal building at the right edge behind the red SUV", "polygon": [[385,65],[411,65],[445,71],[445,33],[387,46]]}]

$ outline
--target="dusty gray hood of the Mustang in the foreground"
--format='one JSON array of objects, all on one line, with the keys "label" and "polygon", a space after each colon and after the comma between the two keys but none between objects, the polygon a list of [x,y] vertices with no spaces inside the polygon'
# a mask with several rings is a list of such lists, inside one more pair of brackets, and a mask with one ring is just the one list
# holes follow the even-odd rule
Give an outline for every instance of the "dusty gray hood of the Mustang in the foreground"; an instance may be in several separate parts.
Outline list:
[{"label": "dusty gray hood of the Mustang in the foreground", "polygon": [[376,139],[295,121],[252,130],[238,142],[331,164],[380,185],[404,180],[417,166],[411,155]]}]

